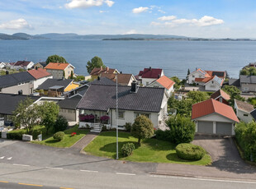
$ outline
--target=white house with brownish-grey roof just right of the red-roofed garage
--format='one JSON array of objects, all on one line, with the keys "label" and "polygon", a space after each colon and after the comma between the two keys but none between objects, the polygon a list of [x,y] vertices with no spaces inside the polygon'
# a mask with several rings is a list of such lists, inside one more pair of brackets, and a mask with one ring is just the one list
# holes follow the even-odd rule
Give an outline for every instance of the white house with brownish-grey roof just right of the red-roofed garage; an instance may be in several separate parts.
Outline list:
[{"label": "white house with brownish-grey roof just right of the red-roofed garage", "polygon": [[252,104],[235,99],[236,116],[243,122],[252,122],[255,118],[255,108]]}]

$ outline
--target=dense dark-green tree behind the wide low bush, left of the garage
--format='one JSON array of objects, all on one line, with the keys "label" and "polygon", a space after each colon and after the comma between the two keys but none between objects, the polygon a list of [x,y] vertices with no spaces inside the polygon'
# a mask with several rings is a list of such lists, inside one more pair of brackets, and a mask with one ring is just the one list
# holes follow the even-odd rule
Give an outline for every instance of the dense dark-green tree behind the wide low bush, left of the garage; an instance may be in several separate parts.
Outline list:
[{"label": "dense dark-green tree behind the wide low bush, left of the garage", "polygon": [[188,117],[177,115],[166,122],[170,130],[168,139],[174,144],[189,143],[193,141],[196,131],[196,124]]}]

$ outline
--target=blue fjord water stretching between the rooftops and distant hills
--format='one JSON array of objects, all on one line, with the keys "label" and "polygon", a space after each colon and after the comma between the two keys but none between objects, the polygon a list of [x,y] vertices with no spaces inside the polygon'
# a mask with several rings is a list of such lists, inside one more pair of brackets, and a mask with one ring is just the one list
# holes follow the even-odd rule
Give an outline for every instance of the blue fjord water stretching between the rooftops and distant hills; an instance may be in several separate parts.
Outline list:
[{"label": "blue fjord water stretching between the rooftops and distant hills", "polygon": [[256,62],[256,41],[0,40],[0,62],[39,62],[52,54],[83,75],[88,75],[88,60],[98,56],[108,67],[134,75],[144,67],[159,67],[166,76],[185,78],[188,68],[201,67],[238,77],[239,69]]}]

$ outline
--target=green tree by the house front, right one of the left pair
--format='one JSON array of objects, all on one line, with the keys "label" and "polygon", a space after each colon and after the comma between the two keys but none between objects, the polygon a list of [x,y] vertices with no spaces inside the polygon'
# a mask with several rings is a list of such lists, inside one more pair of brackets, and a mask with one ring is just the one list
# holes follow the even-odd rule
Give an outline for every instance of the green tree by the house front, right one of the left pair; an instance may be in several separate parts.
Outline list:
[{"label": "green tree by the house front, right one of the left pair", "polygon": [[40,105],[41,124],[46,128],[46,134],[53,127],[59,115],[59,106],[54,102],[44,102]]}]

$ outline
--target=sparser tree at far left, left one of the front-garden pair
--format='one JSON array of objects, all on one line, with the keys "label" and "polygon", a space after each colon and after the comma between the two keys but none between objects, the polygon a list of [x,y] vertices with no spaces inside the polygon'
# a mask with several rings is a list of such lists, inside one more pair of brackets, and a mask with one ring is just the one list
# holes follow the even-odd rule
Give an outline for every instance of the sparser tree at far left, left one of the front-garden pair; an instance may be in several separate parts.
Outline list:
[{"label": "sparser tree at far left, left one of the front-garden pair", "polygon": [[33,128],[39,123],[40,108],[33,104],[30,98],[21,100],[13,112],[12,121],[16,127],[25,127],[27,134],[32,134]]}]

